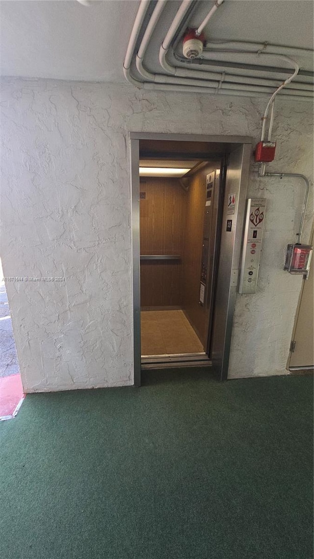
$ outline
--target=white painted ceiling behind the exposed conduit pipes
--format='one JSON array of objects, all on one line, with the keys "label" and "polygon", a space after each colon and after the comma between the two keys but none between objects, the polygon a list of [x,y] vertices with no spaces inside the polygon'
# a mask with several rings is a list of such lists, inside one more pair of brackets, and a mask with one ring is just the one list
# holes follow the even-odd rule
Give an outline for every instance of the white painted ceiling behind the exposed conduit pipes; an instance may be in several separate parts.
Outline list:
[{"label": "white painted ceiling behind the exposed conduit pipes", "polygon": [[[148,51],[152,70],[180,2],[168,2]],[[192,25],[213,5],[199,2]],[[1,74],[123,82],[122,64],[139,1],[1,0]],[[313,48],[311,0],[226,0],[206,28],[208,40],[268,41]],[[157,48],[158,47],[158,48]]]}]

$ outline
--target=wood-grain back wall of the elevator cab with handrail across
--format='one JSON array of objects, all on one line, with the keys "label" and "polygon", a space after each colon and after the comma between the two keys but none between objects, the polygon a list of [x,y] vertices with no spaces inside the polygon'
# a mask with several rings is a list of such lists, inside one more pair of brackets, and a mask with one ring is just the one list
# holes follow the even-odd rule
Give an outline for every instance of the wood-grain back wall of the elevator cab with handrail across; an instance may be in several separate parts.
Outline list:
[{"label": "wood-grain back wall of the elevator cab with handrail across", "polygon": [[141,307],[182,308],[182,258],[187,192],[176,178],[140,180],[140,249],[179,255],[178,260],[141,260]]}]

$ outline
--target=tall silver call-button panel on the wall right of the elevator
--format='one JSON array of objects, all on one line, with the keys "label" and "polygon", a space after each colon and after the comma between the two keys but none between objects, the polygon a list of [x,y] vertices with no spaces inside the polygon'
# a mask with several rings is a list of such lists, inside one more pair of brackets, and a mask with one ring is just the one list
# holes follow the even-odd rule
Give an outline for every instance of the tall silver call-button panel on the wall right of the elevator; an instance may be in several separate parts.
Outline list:
[{"label": "tall silver call-button panel on the wall right of the elevator", "polygon": [[248,198],[242,245],[239,293],[256,292],[265,209],[265,198]]}]

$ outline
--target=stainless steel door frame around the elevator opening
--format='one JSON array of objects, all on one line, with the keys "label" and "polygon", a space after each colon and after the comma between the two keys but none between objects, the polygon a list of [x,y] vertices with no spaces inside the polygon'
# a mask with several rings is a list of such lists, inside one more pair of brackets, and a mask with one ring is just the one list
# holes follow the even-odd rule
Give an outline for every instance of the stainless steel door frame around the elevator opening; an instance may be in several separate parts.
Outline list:
[{"label": "stainless steel door frame around the elevator opening", "polygon": [[[226,380],[229,367],[232,320],[234,315],[240,249],[248,187],[252,139],[246,136],[210,136],[189,134],[130,133],[131,201],[132,201],[132,292],[134,318],[134,386],[141,384],[141,317],[140,317],[140,140],[173,140],[229,144],[230,158],[223,198],[221,236],[214,301],[212,364],[220,380]],[[227,196],[236,195],[234,214],[228,214]],[[232,221],[227,230],[227,220]],[[208,360],[209,364],[210,361]],[[191,361],[191,366],[193,361]]]}]

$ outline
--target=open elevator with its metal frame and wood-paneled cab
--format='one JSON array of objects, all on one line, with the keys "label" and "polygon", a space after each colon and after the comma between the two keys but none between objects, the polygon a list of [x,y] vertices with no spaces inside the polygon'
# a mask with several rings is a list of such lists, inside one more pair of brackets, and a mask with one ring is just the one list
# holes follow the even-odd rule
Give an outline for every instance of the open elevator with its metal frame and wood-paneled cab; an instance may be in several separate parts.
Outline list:
[{"label": "open elevator with its metal frame and wood-paneled cab", "polygon": [[217,140],[131,134],[136,385],[141,368],[227,376],[251,140]]}]

